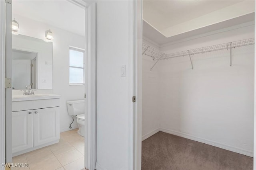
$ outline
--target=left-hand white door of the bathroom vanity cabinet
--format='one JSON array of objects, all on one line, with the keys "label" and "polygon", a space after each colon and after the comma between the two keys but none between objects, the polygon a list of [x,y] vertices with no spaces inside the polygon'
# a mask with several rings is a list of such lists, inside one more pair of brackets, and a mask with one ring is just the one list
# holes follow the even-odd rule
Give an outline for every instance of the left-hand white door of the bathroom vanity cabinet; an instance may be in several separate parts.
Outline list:
[{"label": "left-hand white door of the bathroom vanity cabinet", "polygon": [[12,153],[33,147],[33,111],[12,112]]}]

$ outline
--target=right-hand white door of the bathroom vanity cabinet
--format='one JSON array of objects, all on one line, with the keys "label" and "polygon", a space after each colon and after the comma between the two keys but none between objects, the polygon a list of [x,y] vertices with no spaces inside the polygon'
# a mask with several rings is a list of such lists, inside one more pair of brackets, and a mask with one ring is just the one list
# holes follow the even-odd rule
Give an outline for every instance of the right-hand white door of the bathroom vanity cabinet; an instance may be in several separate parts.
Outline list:
[{"label": "right-hand white door of the bathroom vanity cabinet", "polygon": [[60,139],[59,107],[35,109],[34,147]]}]

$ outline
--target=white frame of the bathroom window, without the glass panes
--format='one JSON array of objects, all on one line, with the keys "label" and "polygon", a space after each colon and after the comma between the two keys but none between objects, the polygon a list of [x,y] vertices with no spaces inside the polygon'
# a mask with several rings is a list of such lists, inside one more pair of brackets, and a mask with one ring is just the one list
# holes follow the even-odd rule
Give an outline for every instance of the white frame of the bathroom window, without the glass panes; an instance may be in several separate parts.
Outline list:
[{"label": "white frame of the bathroom window, without the glass panes", "polygon": [[[79,52],[82,52],[83,53],[83,67],[76,67],[76,66],[70,66],[70,50],[73,50],[73,51],[79,51]],[[84,63],[84,55],[85,55],[85,49],[81,49],[81,48],[78,48],[78,47],[72,47],[72,46],[69,46],[69,49],[68,49],[68,82],[69,82],[69,86],[84,86],[85,85],[85,74],[84,74],[84,66],[85,66],[85,63]],[[80,68],[80,69],[83,69],[83,79],[84,79],[84,82],[83,83],[70,83],[70,68]]]}]

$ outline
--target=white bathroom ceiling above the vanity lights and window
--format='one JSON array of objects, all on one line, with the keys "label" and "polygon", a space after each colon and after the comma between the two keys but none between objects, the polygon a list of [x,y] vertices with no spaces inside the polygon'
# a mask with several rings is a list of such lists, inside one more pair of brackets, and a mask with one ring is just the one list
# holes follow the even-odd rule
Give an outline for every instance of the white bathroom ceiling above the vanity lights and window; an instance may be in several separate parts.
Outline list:
[{"label": "white bathroom ceiling above the vanity lights and window", "polygon": [[12,0],[12,13],[85,35],[85,10],[67,0]]}]

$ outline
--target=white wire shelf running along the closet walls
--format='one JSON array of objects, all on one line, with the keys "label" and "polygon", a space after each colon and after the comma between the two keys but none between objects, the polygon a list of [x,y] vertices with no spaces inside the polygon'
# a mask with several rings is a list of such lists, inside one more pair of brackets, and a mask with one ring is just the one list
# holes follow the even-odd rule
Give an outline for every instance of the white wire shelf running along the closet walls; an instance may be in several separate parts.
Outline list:
[{"label": "white wire shelf running along the closet walls", "polygon": [[153,47],[150,47],[150,45],[147,45],[146,43],[143,43],[142,49],[144,51],[144,55],[152,57],[153,60],[158,60],[158,59],[163,60],[163,59],[184,57],[184,56],[201,54],[201,53],[203,54],[203,53],[207,53],[207,52],[230,49],[230,48],[235,48],[235,47],[242,47],[245,45],[253,45],[253,44],[254,44],[254,38],[250,38],[250,39],[243,39],[240,41],[222,43],[222,44],[218,44],[218,45],[212,45],[212,46],[202,47],[202,48],[197,48],[197,49],[190,49],[187,51],[180,51],[180,52],[170,53],[170,54],[166,54],[166,53],[159,51]]}]

